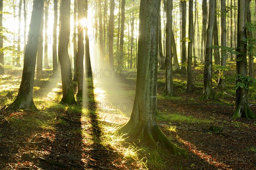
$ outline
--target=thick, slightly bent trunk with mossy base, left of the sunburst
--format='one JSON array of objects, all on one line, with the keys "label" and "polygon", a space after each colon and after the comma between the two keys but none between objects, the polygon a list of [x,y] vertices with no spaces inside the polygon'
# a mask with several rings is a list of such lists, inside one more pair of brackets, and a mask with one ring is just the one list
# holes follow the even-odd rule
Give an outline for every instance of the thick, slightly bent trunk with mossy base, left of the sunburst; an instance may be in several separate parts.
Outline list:
[{"label": "thick, slightly bent trunk with mossy base, left of the sunburst", "polygon": [[68,54],[70,40],[70,0],[61,1],[61,31],[58,57],[61,64],[62,99],[61,104],[76,104],[74,96],[71,62]]}]

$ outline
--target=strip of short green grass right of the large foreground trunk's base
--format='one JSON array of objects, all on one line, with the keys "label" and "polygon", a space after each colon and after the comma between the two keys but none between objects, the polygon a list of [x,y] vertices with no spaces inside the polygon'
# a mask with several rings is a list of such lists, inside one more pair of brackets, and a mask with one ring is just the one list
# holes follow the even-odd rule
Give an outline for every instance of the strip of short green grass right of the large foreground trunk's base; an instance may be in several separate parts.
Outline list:
[{"label": "strip of short green grass right of the large foreground trunk's base", "polygon": [[210,119],[199,119],[194,116],[185,116],[180,113],[169,113],[169,114],[160,114],[157,116],[158,121],[164,122],[180,122],[180,123],[191,123],[191,124],[209,124],[212,123],[213,120]]}]

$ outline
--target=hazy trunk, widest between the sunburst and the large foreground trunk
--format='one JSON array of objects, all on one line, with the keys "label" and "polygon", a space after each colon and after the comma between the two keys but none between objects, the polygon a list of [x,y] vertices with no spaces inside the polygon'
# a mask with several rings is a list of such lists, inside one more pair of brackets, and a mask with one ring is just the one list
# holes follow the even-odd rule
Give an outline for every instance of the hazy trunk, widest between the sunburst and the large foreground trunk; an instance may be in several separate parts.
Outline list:
[{"label": "hazy trunk, widest between the sunburst and the large foreground trunk", "polygon": [[110,7],[110,15],[109,15],[109,23],[108,23],[108,32],[109,32],[109,46],[108,46],[108,57],[109,57],[109,67],[111,69],[114,68],[114,61],[113,61],[113,42],[114,42],[114,10],[115,10],[115,1],[111,0],[111,7]]}]

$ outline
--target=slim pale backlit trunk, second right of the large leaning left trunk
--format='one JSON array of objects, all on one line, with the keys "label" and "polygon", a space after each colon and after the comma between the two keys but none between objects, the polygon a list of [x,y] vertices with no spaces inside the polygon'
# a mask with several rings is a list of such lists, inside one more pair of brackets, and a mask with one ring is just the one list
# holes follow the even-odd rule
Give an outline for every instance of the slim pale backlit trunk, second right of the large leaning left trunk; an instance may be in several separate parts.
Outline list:
[{"label": "slim pale backlit trunk, second right of the large leaning left trunk", "polygon": [[49,69],[48,63],[48,14],[49,14],[49,0],[46,1],[46,6],[44,7],[44,68]]}]

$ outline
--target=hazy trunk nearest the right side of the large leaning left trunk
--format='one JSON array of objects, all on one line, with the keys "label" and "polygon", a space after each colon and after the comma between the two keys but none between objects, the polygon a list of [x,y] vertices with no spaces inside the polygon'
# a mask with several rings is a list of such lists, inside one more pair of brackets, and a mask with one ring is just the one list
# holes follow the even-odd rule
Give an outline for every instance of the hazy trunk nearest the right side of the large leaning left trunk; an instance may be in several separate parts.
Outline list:
[{"label": "hazy trunk nearest the right side of the large leaning left trunk", "polygon": [[[43,10],[43,16],[44,16],[44,8]],[[43,44],[43,32],[44,32],[44,17],[42,17],[41,20],[41,27],[39,30],[39,35],[41,39],[38,39],[38,48],[37,48],[37,59],[36,59],[36,79],[41,79],[44,76],[43,71],[43,54],[44,54],[44,44]]]}]

